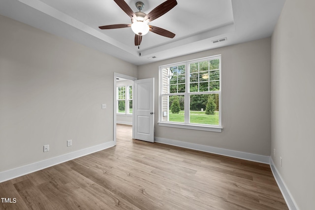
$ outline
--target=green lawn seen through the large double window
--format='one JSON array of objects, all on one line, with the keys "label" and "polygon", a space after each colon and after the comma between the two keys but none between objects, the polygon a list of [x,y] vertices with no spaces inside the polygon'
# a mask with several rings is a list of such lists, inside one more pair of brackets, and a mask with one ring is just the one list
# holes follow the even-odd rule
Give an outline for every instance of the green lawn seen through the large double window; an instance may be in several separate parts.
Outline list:
[{"label": "green lawn seen through the large double window", "polygon": [[[215,112],[214,115],[206,115],[205,113],[206,112],[202,111],[190,111],[190,122],[219,125],[219,112]],[[173,122],[184,122],[184,111],[180,111],[179,114],[170,113],[169,120]]]}]

